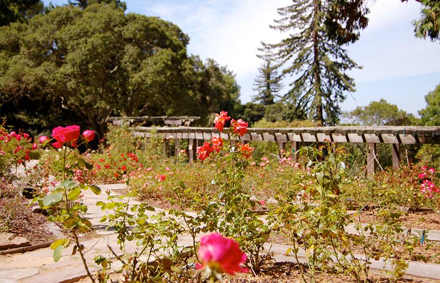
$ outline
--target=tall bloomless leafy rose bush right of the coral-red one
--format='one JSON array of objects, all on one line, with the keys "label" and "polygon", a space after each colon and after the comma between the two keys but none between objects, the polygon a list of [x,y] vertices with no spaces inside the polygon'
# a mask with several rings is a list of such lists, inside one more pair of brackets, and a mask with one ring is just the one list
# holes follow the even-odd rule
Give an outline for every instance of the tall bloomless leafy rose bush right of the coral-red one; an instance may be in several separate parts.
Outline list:
[{"label": "tall bloomless leafy rose bush right of the coral-red one", "polygon": [[[280,231],[291,241],[301,276],[305,282],[315,282],[317,272],[344,267],[341,253],[349,245],[345,226],[349,222],[342,202],[341,186],[347,177],[345,154],[326,142],[319,149],[303,147],[301,154],[308,157],[309,174],[303,183],[280,192],[279,208],[275,214],[281,219]],[[298,260],[305,252],[308,259],[306,274]]]}]

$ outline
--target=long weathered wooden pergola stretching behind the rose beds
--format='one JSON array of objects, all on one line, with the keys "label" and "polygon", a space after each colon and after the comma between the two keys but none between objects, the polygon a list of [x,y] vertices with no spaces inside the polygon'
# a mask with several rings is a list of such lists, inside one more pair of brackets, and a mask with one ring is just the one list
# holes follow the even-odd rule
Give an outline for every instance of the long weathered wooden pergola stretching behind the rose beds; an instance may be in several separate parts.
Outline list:
[{"label": "long weathered wooden pergola stretching behind the rose beds", "polygon": [[[176,152],[180,150],[179,140],[189,140],[188,150],[190,161],[196,160],[196,147],[211,137],[220,136],[227,139],[226,132],[213,128],[202,127],[134,127],[134,134],[150,137],[152,133],[162,135],[164,139],[174,139]],[[440,127],[418,126],[343,126],[343,127],[307,127],[307,128],[249,128],[240,141],[277,142],[280,151],[290,142],[292,150],[299,148],[300,142],[354,142],[367,143],[367,172],[374,174],[374,160],[377,159],[376,144],[392,144],[393,167],[400,162],[400,144],[440,144]]]}]

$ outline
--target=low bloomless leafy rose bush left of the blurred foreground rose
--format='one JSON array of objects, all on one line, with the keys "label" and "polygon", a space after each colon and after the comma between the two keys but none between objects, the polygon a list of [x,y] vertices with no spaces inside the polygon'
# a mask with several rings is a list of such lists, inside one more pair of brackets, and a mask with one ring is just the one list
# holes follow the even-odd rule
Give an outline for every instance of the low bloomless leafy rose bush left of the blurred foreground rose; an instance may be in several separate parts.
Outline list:
[{"label": "low bloomless leafy rose bush left of the blurred foreground rose", "polygon": [[[154,207],[145,203],[131,203],[138,196],[138,191],[130,186],[130,176],[124,176],[127,193],[110,195],[109,202],[98,202],[102,210],[110,210],[101,222],[108,221],[108,228],[114,228],[118,235],[118,254],[110,244],[111,254],[122,264],[115,271],[122,273],[125,280],[134,282],[165,281],[176,282],[182,278],[196,278],[192,268],[196,249],[195,237],[193,245],[179,245],[181,236],[195,226],[186,226],[179,219],[187,217],[184,212],[174,209],[155,211]],[[138,249],[129,253],[126,242],[136,241]],[[197,257],[197,255],[196,255]],[[106,270],[99,274],[100,282],[106,282],[110,270],[116,268],[110,258],[102,255],[95,257],[95,262]]]}]

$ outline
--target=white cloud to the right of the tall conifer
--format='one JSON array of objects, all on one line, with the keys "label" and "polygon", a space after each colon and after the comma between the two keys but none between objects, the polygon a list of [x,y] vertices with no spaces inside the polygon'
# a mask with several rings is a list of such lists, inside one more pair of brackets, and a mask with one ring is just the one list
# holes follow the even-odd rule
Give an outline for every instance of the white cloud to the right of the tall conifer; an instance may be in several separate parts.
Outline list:
[{"label": "white cloud to the right of the tall conifer", "polygon": [[361,82],[388,80],[440,71],[440,46],[414,37],[412,21],[421,5],[379,0],[371,6],[369,26],[349,46],[350,57],[364,68],[352,71]]}]

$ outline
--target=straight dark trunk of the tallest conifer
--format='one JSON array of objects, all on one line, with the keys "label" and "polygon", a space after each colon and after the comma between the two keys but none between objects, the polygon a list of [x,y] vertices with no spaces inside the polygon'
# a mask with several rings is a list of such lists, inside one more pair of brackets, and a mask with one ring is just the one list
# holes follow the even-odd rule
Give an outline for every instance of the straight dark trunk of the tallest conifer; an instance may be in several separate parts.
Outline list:
[{"label": "straight dark trunk of the tallest conifer", "polygon": [[318,28],[320,23],[318,3],[319,0],[313,0],[313,87],[315,88],[315,98],[313,104],[316,108],[316,121],[320,121],[321,124],[324,124],[324,116],[322,113],[321,74],[318,50]]}]

